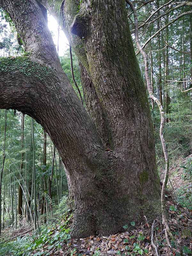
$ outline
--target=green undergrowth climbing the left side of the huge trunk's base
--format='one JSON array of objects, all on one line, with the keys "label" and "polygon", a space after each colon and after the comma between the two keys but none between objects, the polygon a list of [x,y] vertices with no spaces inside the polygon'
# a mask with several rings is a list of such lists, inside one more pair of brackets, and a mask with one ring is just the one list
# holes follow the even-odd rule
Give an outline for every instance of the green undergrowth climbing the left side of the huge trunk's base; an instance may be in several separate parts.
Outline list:
[{"label": "green undergrowth climbing the left side of the huge trunk's base", "polygon": [[[62,213],[61,213],[62,212]],[[63,213],[64,212],[64,213]],[[14,256],[48,256],[52,248],[60,249],[70,239],[70,224],[73,214],[67,207],[67,197],[63,197],[58,209],[49,218],[49,225],[44,224],[32,234],[17,237],[16,240],[0,243],[0,255]]]}]

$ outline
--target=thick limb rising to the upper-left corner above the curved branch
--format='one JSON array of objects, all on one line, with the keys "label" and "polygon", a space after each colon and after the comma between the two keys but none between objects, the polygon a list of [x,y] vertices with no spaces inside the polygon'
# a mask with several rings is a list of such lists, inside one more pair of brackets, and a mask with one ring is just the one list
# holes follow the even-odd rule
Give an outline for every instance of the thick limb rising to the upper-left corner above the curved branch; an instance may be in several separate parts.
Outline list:
[{"label": "thick limb rising to the upper-left corner above the curved branch", "polygon": [[[10,14],[19,33],[25,52],[31,60],[57,69],[59,58],[42,9],[36,1],[16,3],[0,0],[0,6]],[[24,15],[23,15],[24,13]]]}]

